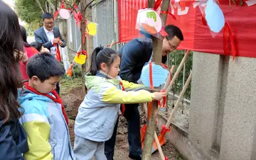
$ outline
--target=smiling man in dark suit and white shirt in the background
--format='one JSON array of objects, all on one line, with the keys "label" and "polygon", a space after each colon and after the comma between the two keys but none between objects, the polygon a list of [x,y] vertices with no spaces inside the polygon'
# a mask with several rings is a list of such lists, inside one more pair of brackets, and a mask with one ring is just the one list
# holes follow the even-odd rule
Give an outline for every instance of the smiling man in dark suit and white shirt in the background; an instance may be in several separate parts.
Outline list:
[{"label": "smiling man in dark suit and white shirt in the background", "polygon": [[[50,50],[50,53],[56,54],[56,45],[60,47],[65,47],[65,40],[63,40],[60,35],[60,30],[54,25],[53,15],[51,13],[43,13],[43,27],[35,31],[35,40],[43,44],[43,47],[46,47]],[[57,84],[56,91],[60,94],[60,86]]]}]

